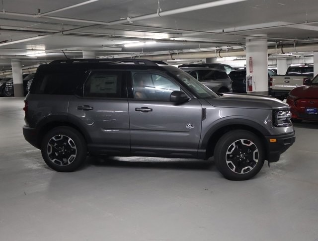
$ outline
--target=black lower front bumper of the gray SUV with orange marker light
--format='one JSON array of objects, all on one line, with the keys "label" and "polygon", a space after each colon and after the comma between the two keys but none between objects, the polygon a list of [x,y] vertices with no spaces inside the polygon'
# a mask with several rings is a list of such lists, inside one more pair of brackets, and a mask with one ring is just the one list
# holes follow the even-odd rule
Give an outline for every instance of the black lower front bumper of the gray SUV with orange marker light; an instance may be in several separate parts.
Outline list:
[{"label": "black lower front bumper of the gray SUV with orange marker light", "polygon": [[[274,141],[275,140],[275,141]],[[279,136],[266,136],[267,141],[267,157],[268,162],[276,162],[279,160],[280,155],[284,153],[295,142],[295,131],[290,134]]]}]

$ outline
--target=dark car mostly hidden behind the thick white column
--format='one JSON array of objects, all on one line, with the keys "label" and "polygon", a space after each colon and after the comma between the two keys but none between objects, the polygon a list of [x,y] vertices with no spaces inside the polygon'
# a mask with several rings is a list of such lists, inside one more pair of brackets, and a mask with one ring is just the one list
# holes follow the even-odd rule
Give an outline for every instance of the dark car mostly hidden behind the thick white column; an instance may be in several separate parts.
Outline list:
[{"label": "dark car mostly hidden behind the thick white column", "polygon": [[[268,73],[268,82],[270,82],[272,81],[271,80],[272,76],[276,75],[276,73],[271,69],[268,69],[267,73]],[[233,92],[246,93],[246,69],[232,71],[229,74],[229,77],[233,81],[232,82]]]}]

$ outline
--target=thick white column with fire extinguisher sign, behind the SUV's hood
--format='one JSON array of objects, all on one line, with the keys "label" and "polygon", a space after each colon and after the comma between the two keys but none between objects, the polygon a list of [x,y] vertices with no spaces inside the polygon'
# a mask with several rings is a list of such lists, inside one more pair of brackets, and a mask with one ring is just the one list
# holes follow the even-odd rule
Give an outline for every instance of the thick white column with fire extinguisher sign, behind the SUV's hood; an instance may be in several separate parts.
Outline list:
[{"label": "thick white column with fire extinguisher sign, behind the SUV's hood", "polygon": [[252,76],[252,93],[268,95],[267,65],[267,40],[246,38],[246,75]]}]

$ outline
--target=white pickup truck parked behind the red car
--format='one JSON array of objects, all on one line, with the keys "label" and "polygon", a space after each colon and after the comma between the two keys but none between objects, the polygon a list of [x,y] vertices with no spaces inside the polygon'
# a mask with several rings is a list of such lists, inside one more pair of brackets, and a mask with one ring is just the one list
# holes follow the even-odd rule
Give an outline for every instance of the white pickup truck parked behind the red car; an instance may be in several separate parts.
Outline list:
[{"label": "white pickup truck parked behind the red car", "polygon": [[277,75],[270,78],[268,94],[283,100],[293,88],[303,85],[305,80],[313,77],[313,65],[290,66],[286,75]]}]

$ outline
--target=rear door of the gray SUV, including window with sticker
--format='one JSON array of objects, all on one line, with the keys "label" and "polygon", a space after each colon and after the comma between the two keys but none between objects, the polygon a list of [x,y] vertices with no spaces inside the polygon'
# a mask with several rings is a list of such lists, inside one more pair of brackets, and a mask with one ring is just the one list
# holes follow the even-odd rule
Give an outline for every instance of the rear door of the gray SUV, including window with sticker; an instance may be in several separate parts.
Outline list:
[{"label": "rear door of the gray SUV, including window with sticker", "polygon": [[69,119],[88,135],[88,148],[95,154],[129,153],[128,72],[91,71],[82,96],[73,96]]}]

